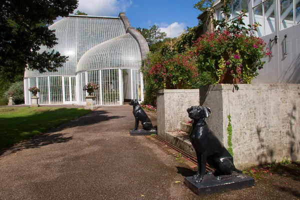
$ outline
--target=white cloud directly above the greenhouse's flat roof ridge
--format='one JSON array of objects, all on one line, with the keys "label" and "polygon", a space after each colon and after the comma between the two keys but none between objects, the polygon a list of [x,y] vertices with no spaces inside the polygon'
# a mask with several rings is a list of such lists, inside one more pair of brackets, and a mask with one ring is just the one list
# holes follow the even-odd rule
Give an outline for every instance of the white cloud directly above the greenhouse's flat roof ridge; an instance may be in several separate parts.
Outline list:
[{"label": "white cloud directly above the greenhouse's flat roof ridge", "polygon": [[126,11],[131,3],[131,0],[79,0],[76,10],[88,15],[111,16]]}]

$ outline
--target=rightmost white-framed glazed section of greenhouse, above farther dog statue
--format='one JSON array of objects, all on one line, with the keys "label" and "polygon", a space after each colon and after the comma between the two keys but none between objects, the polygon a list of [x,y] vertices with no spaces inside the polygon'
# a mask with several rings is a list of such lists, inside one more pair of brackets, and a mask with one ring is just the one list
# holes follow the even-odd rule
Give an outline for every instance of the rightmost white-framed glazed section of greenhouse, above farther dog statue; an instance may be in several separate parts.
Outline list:
[{"label": "rightmost white-framed glazed section of greenhouse, above farther dog statue", "polygon": [[136,98],[139,102],[143,99],[143,88],[139,69],[131,69],[131,99]]}]

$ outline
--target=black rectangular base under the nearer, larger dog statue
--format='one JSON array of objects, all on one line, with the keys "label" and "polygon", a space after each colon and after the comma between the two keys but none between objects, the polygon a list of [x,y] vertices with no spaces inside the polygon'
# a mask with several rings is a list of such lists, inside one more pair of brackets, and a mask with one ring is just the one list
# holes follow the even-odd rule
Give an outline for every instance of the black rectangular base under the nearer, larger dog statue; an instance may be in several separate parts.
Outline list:
[{"label": "black rectangular base under the nearer, larger dog statue", "polygon": [[184,183],[197,195],[254,186],[254,179],[244,173],[232,173],[231,177],[220,180],[213,174],[205,174],[201,183],[196,183],[191,178],[192,176],[184,177]]}]

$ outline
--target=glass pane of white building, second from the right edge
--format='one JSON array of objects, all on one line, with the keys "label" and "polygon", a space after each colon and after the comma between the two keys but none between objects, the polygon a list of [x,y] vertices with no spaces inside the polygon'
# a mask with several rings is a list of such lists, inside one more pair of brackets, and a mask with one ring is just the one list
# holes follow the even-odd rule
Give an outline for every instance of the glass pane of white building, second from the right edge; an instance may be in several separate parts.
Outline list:
[{"label": "glass pane of white building, second from the right edge", "polygon": [[280,0],[280,29],[293,25],[293,1]]}]

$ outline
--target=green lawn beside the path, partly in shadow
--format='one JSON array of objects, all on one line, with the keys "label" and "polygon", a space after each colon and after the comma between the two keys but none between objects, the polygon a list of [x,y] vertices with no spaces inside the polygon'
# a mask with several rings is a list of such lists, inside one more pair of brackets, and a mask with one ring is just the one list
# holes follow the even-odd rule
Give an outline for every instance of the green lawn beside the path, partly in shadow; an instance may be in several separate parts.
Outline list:
[{"label": "green lawn beside the path, partly in shadow", "polygon": [[83,108],[2,107],[0,108],[0,148],[89,112],[90,110]]}]

